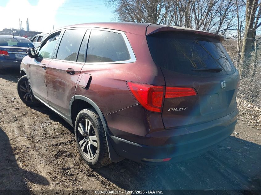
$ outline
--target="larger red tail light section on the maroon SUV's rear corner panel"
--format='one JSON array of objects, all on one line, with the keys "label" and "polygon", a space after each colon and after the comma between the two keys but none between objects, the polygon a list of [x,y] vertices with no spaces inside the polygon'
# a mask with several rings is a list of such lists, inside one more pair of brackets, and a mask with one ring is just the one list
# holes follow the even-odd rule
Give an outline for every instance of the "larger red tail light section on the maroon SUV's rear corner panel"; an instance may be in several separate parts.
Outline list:
[{"label": "larger red tail light section on the maroon SUV's rear corner panel", "polygon": [[127,82],[129,90],[136,100],[147,110],[161,112],[164,87]]}]

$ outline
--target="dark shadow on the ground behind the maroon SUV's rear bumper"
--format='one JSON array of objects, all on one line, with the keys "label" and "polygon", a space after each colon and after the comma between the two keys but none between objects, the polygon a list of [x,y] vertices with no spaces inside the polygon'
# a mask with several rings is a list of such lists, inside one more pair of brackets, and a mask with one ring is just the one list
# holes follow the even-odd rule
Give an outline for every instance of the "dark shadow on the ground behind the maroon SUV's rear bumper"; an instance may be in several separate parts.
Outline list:
[{"label": "dark shadow on the ground behind the maroon SUV's rear bumper", "polygon": [[190,160],[155,166],[123,160],[96,172],[123,189],[260,190],[260,148],[229,136]]}]

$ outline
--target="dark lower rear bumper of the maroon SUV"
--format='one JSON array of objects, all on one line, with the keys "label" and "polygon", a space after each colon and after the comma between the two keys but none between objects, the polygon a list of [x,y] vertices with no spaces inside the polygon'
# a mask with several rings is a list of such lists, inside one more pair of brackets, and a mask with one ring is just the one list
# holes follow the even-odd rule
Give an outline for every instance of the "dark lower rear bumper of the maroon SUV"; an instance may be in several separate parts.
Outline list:
[{"label": "dark lower rear bumper of the maroon SUV", "polygon": [[[168,162],[181,161],[206,152],[211,147],[227,138],[235,129],[237,115],[238,111],[236,110],[228,116],[208,122],[212,123],[212,125],[210,125],[212,127],[204,128],[201,131],[197,128],[202,128],[203,124],[195,125],[193,126],[193,132],[184,135],[179,134],[179,130],[181,129],[174,129],[173,131],[179,132],[179,135],[173,135],[169,138],[170,140],[173,140],[173,144],[148,146],[124,140],[116,136],[109,136],[109,139],[112,147],[119,156],[136,162],[152,163],[145,159],[158,160],[165,158],[172,158]],[[227,124],[228,121],[225,121],[225,119],[228,118],[230,118],[230,124],[226,126],[222,125]],[[204,125],[208,125],[208,123],[205,123]],[[213,127],[213,123],[217,124],[216,127]],[[184,128],[184,132],[185,131]]]}]

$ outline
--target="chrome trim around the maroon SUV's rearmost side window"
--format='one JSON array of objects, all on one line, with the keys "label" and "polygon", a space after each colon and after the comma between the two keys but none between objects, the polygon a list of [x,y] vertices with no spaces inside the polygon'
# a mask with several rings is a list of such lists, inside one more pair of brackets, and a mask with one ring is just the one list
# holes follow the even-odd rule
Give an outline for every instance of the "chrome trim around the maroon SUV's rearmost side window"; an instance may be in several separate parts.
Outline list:
[{"label": "chrome trim around the maroon SUV's rearmost side window", "polygon": [[[91,30],[102,30],[102,31],[108,31],[108,32],[114,32],[114,33],[119,33],[122,35],[123,39],[124,39],[124,42],[126,44],[126,47],[128,49],[128,52],[129,52],[129,55],[130,55],[130,59],[128,60],[124,60],[124,61],[115,61],[115,62],[85,62],[84,64],[123,64],[123,63],[133,63],[133,62],[136,62],[136,57],[135,57],[135,54],[133,52],[133,49],[130,45],[130,42],[127,38],[127,36],[125,35],[125,33],[123,31],[120,31],[120,30],[112,30],[112,29],[107,29],[107,28],[96,28],[96,27],[91,27],[91,28],[88,28],[88,29],[91,29]],[[91,34],[90,34],[91,36]],[[89,44],[89,42],[88,42]]]}]

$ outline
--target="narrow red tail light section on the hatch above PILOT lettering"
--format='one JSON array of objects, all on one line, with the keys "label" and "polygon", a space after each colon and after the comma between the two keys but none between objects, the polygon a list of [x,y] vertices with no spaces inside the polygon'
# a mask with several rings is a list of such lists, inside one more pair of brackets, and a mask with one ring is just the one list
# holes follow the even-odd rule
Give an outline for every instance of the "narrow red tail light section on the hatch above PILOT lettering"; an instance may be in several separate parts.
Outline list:
[{"label": "narrow red tail light section on the hatch above PILOT lettering", "polygon": [[197,95],[194,88],[190,87],[166,87],[165,98],[176,98]]}]

